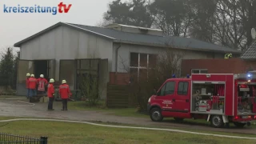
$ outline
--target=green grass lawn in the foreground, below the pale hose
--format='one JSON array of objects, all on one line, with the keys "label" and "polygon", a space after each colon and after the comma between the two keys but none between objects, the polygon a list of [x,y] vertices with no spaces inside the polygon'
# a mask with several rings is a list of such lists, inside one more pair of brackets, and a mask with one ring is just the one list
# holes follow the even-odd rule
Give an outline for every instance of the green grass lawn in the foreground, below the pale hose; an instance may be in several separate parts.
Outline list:
[{"label": "green grass lawn in the foreground, below the pale hose", "polygon": [[196,134],[182,134],[156,130],[132,130],[110,128],[102,126],[90,126],[78,123],[66,122],[8,122],[0,130],[3,133],[29,135],[35,138],[48,136],[49,143],[54,144],[85,144],[85,143],[243,143],[254,144],[255,140],[218,138]]}]

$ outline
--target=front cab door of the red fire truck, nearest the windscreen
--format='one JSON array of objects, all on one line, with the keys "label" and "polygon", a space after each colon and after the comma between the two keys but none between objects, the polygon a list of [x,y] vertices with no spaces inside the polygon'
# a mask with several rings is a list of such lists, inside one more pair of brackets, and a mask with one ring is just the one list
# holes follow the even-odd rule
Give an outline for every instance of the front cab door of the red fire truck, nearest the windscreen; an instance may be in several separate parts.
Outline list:
[{"label": "front cab door of the red fire truck, nearest the windscreen", "polygon": [[164,86],[160,90],[158,90],[158,94],[155,97],[158,104],[162,108],[163,116],[171,116],[173,115],[172,109],[174,109],[174,103],[172,102],[172,98],[174,98],[174,90],[176,83],[174,81],[166,82]]}]

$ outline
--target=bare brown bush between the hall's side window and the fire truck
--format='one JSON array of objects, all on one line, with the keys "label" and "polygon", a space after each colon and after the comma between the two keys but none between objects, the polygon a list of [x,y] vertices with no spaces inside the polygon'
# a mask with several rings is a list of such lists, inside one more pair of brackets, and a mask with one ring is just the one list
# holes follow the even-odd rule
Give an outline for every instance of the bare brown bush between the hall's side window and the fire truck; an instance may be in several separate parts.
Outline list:
[{"label": "bare brown bush between the hall's side window and the fire truck", "polygon": [[130,74],[130,93],[133,98],[137,98],[140,112],[146,110],[148,98],[167,78],[171,78],[172,74],[180,77],[181,61],[186,52],[174,49],[174,44],[170,43],[166,42],[166,47],[159,50],[156,62],[150,64],[147,70],[140,71],[139,74],[132,73],[126,65],[127,60],[120,58],[122,70]]}]

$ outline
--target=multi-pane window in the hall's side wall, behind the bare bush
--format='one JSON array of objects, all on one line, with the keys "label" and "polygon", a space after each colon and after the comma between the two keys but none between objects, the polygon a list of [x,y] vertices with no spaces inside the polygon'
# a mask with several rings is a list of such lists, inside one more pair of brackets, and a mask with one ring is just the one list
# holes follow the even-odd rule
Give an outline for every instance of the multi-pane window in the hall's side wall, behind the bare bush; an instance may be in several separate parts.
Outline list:
[{"label": "multi-pane window in the hall's side wall, behind the bare bush", "polygon": [[137,69],[138,78],[147,78],[148,69],[156,65],[157,54],[130,53],[130,73]]}]

